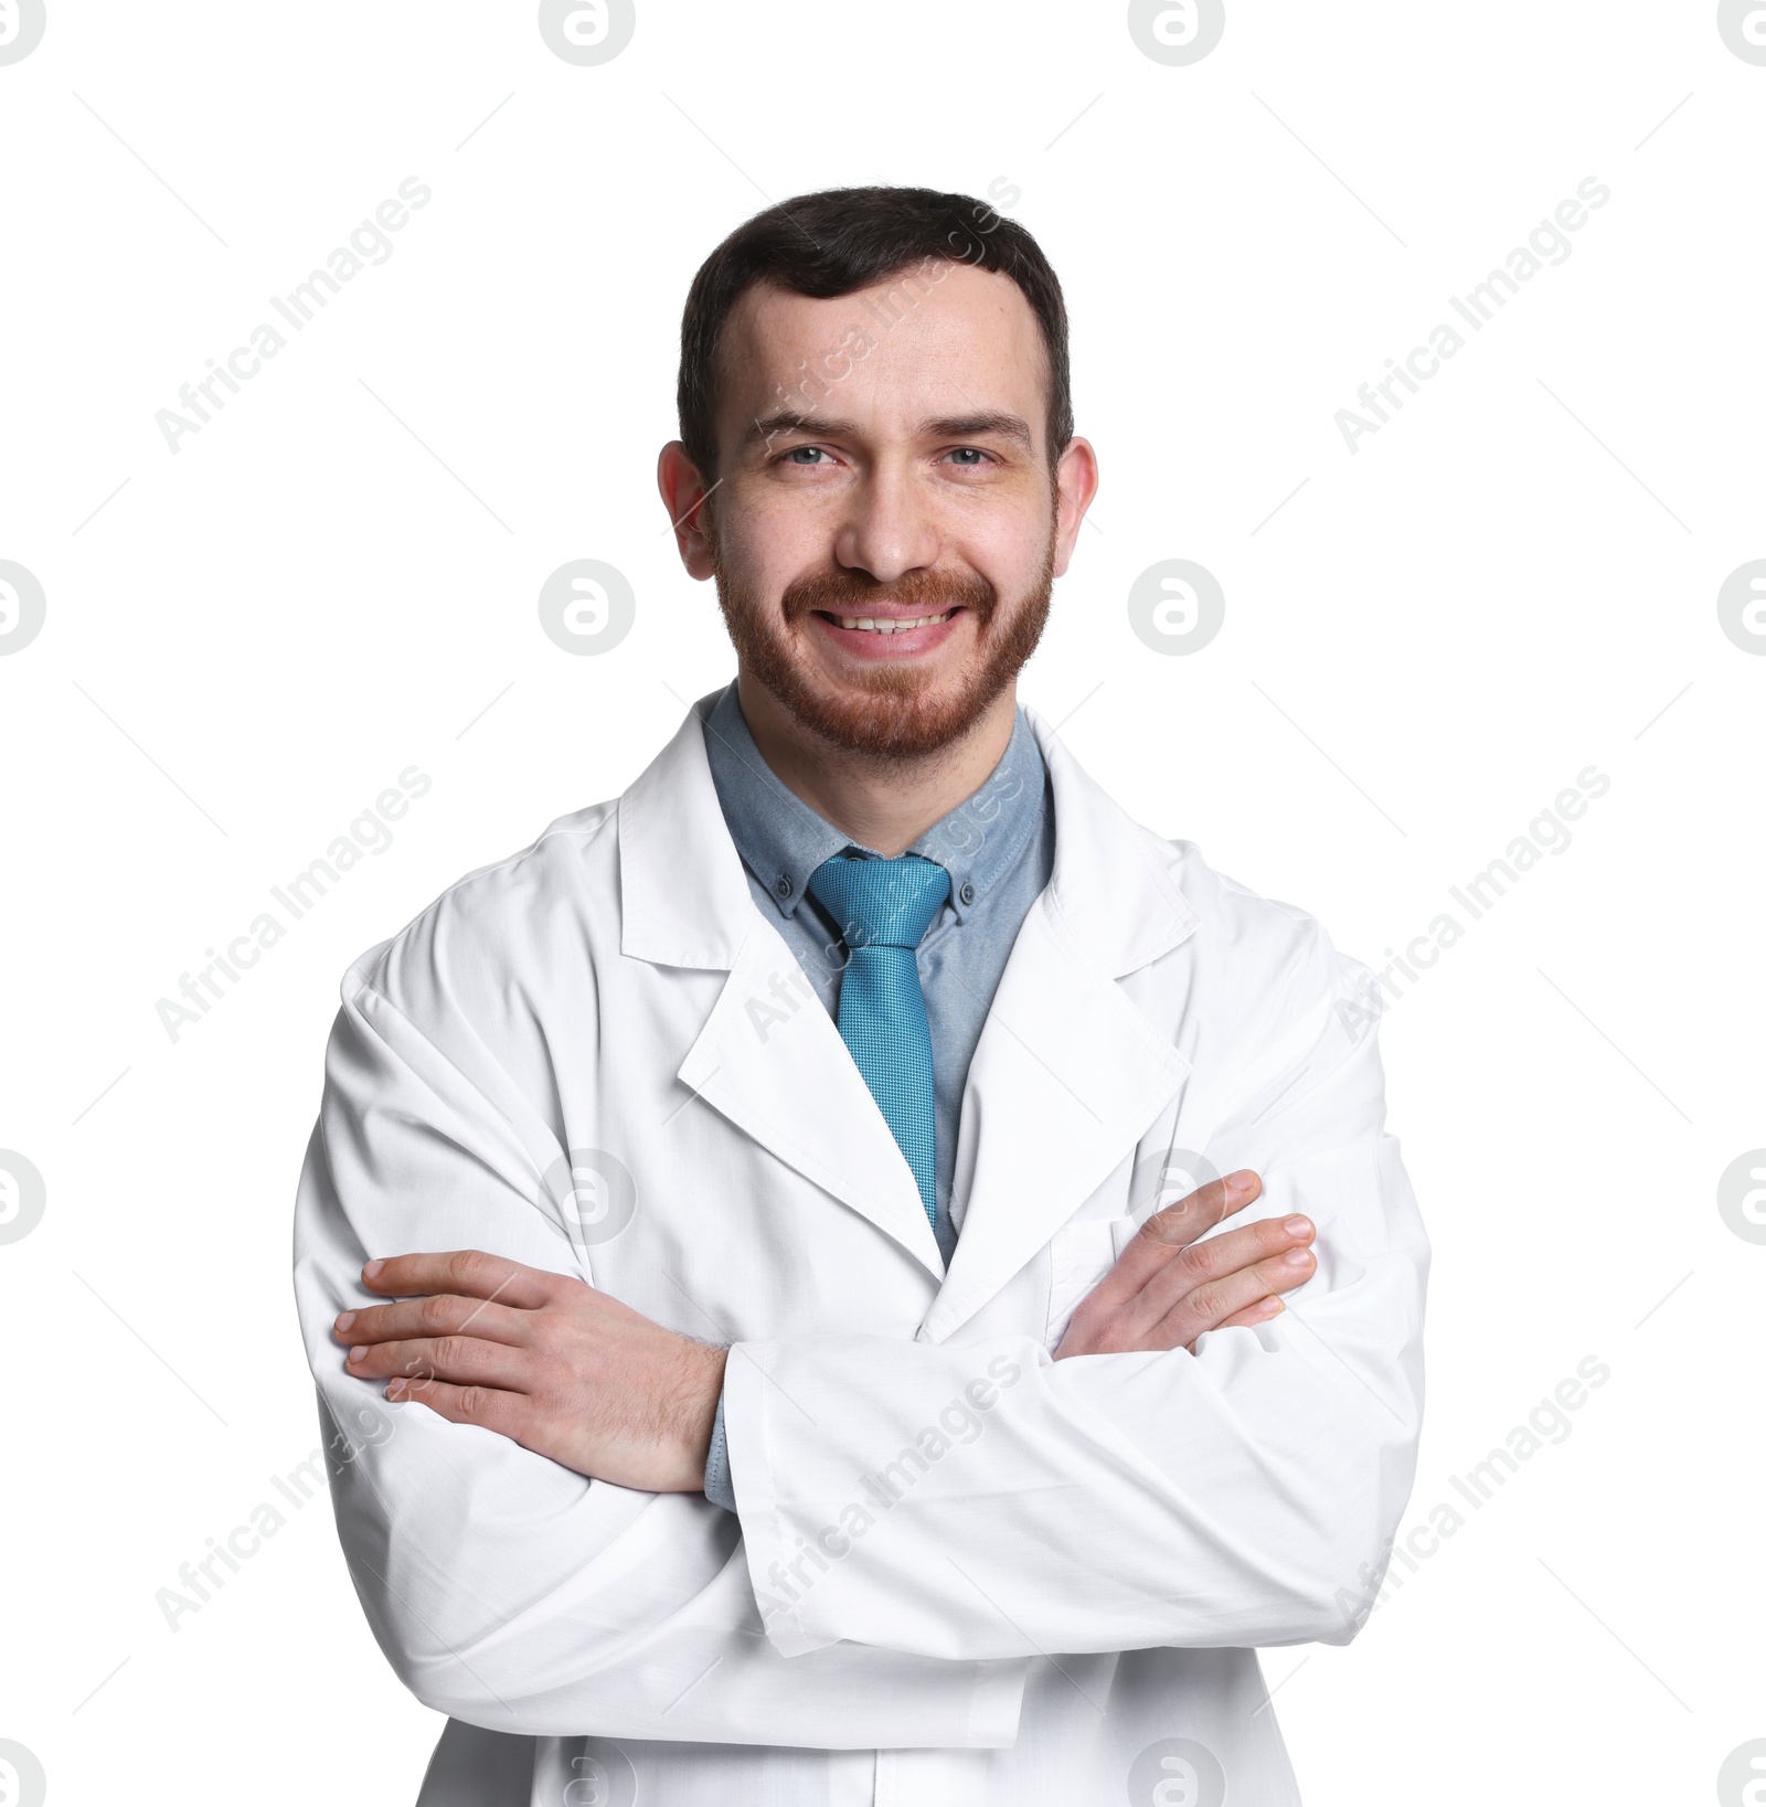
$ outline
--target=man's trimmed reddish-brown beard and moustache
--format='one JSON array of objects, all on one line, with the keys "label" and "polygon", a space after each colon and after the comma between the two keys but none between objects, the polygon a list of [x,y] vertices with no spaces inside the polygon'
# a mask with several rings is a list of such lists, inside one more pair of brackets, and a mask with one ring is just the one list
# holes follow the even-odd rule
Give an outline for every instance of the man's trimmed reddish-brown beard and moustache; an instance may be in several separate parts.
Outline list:
[{"label": "man's trimmed reddish-brown beard and moustache", "polygon": [[[718,531],[707,520],[718,607],[743,669],[810,734],[844,754],[871,759],[922,759],[960,741],[1023,670],[1054,596],[1056,520],[1050,515],[1041,571],[1016,604],[1001,604],[980,571],[907,571],[877,584],[857,571],[833,569],[799,578],[768,609],[723,562]],[[976,649],[954,681],[904,663],[862,665],[839,687],[821,678],[803,645],[812,614],[862,616],[878,602],[907,604],[922,614],[962,607],[974,616]]]}]

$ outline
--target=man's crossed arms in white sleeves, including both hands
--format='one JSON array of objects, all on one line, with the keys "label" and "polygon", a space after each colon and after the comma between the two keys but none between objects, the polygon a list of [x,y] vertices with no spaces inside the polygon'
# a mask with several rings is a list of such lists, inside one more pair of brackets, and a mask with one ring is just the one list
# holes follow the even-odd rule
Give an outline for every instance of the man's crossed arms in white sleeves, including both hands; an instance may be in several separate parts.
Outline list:
[{"label": "man's crossed arms in white sleeves, including both hands", "polygon": [[[1211,1149],[1245,1156],[1245,1196],[1151,1218],[1054,1357],[680,1337],[551,1270],[495,1091],[363,985],[302,1175],[340,1534],[427,1704],[526,1733],[978,1746],[1010,1740],[1036,1652],[1352,1635],[1338,1596],[1410,1489],[1428,1263],[1372,1035],[1254,1124],[1227,1115]],[[1258,1198],[1267,1220],[1198,1240]],[[436,1241],[456,1252],[401,1252]],[[1291,1247],[1316,1267],[1271,1267]],[[719,1386],[739,1525],[696,1491]],[[352,1444],[381,1388],[421,1409]],[[982,1449],[882,1473],[953,1402]]]}]

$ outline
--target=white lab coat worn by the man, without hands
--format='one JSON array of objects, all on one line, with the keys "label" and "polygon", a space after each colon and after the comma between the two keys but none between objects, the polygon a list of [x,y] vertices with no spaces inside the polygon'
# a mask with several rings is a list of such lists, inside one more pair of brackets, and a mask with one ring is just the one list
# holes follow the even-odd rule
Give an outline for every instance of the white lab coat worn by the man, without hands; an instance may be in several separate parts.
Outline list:
[{"label": "white lab coat worn by the man, without hands", "polygon": [[[969,1070],[945,1274],[750,896],[709,701],[343,979],[295,1287],[363,1610],[454,1720],[421,1807],[1289,1807],[1253,1646],[1350,1639],[1423,1406],[1428,1243],[1363,969],[1032,714],[1056,869]],[[1318,1272],[1193,1355],[1054,1362],[1173,1151],[1254,1167],[1247,1218],[1305,1211]],[[360,1265],[436,1249],[734,1344],[739,1518],[349,1377]]]}]

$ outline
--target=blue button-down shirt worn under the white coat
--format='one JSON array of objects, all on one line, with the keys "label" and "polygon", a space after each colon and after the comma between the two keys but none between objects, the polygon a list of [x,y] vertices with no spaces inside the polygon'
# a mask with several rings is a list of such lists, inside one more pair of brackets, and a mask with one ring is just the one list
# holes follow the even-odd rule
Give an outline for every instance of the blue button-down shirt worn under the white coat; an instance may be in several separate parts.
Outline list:
[{"label": "blue button-down shirt worn under the white coat", "polygon": [[[810,894],[808,882],[822,860],[857,842],[817,815],[766,764],[743,719],[734,683],[705,719],[705,754],[756,907],[797,956],[828,1014],[837,1016],[844,943],[839,925]],[[927,923],[916,954],[933,1032],[933,1234],[949,1265],[962,1229],[962,1202],[951,1198],[951,1175],[963,1082],[1018,931],[1054,873],[1048,768],[1023,710],[987,782],[907,851],[936,860],[951,875],[951,896]],[[705,1494],[736,1511],[721,1399],[705,1464]]]}]

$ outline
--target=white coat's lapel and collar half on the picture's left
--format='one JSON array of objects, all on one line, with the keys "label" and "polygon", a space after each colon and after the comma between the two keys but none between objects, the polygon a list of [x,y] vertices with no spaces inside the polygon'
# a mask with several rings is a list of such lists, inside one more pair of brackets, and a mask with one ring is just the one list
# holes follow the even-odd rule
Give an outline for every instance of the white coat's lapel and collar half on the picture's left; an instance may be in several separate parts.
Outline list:
[{"label": "white coat's lapel and collar half on the picture's left", "polygon": [[620,950],[728,970],[680,1063],[681,1086],[942,1279],[913,1169],[784,938],[756,909],[705,757],[701,712],[714,701],[694,707],[620,799]]}]

